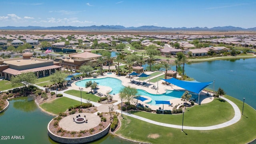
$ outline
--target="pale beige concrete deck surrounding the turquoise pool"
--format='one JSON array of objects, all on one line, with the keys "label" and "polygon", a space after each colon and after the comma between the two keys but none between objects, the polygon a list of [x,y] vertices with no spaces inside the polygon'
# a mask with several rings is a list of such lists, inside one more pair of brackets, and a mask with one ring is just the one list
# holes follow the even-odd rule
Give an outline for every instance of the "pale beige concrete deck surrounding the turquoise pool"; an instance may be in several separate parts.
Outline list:
[{"label": "pale beige concrete deck surrounding the turquoise pool", "polygon": [[[152,73],[154,73],[154,72],[145,72],[145,74],[152,74]],[[164,72],[162,72],[162,74],[164,74]],[[160,74],[160,75],[162,75],[162,74]],[[160,75],[153,76],[150,79],[152,80],[153,78],[157,78]],[[134,84],[134,83],[131,82],[132,80],[135,80],[136,82],[138,82],[139,80],[136,80],[136,79],[138,79],[138,77],[128,78],[128,76],[118,76],[113,72],[112,72],[112,74],[105,73],[104,76],[97,76],[97,78],[106,78],[106,77],[117,78],[117,79],[122,81],[123,86],[132,86],[132,87],[135,87],[137,89],[145,90],[146,92],[151,93],[151,94],[163,94],[163,93],[166,92],[166,90],[184,90],[183,88],[180,88],[180,87],[172,85],[172,84],[170,84],[170,85],[162,84],[162,82],[164,82],[164,80],[161,80],[161,79],[159,79],[158,84],[157,84],[157,82],[155,82],[155,83],[147,82],[149,80],[149,78],[144,80],[144,81],[141,80],[140,82],[147,82],[148,87],[146,87],[146,86],[137,85],[137,84]],[[94,78],[94,79],[97,79],[97,78]],[[90,78],[83,78],[83,80],[84,79],[92,79],[92,78],[91,77]],[[69,87],[68,89],[69,90],[70,89],[79,90],[79,86],[76,86],[76,84],[75,84],[76,82],[73,82],[71,84],[71,87]],[[156,86],[156,87],[158,86],[158,90],[152,89],[153,86]],[[101,92],[102,94],[106,94],[109,90],[111,91],[112,88],[110,88],[108,86],[99,86],[98,92]],[[90,90],[90,88],[84,88],[84,91],[90,92],[91,90]],[[118,94],[115,94],[115,95],[112,95],[112,96],[113,96],[113,100],[118,101],[115,104],[121,103],[121,99],[119,98]],[[206,92],[201,92],[200,93],[200,103],[201,104],[211,102],[212,100],[213,100],[213,98],[211,98],[210,96],[206,96]],[[134,99],[134,100],[132,100],[131,103],[136,104],[136,102],[137,102],[137,100]],[[146,101],[142,102],[142,101],[138,100],[138,103],[144,104],[144,106],[145,105],[149,106],[152,110],[156,110],[159,107],[163,108],[162,104],[160,104],[159,106],[154,106],[154,105],[146,104],[145,102],[148,102],[148,101],[146,100]],[[173,106],[178,105],[178,104],[182,104],[182,103],[184,103],[184,101],[182,101],[181,98],[175,98],[175,99],[170,100],[170,103],[173,103],[172,106],[164,104],[164,110],[172,110]],[[195,104],[198,104],[198,103],[195,103]]]}]

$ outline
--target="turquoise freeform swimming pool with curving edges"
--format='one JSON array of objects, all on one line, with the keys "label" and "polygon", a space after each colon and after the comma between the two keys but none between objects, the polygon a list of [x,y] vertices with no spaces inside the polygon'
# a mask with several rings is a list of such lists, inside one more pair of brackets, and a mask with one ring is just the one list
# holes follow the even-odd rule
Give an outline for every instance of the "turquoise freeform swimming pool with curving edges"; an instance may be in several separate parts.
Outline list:
[{"label": "turquoise freeform swimming pool with curving edges", "polygon": [[[117,78],[97,78],[97,79],[86,79],[86,80],[80,80],[76,82],[76,86],[85,87],[86,82],[88,81],[97,82],[99,86],[109,86],[112,88],[112,91],[110,94],[118,94],[119,91],[124,88],[122,85],[122,81],[118,80]],[[156,104],[155,100],[172,100],[174,98],[180,98],[184,91],[178,91],[178,90],[166,90],[166,93],[164,94],[150,94],[146,92],[145,90],[137,89],[138,95],[140,96],[148,96],[152,98],[152,101],[148,104],[151,105],[159,105]],[[193,98],[196,98],[196,94],[192,94]]]}]

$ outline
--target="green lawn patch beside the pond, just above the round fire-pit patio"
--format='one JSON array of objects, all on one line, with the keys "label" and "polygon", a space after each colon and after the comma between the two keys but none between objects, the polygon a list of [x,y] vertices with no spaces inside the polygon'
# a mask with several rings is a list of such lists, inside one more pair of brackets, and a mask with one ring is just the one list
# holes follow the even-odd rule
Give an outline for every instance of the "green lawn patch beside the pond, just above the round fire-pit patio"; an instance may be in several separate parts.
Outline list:
[{"label": "green lawn patch beside the pond, just above the round fire-pit patio", "polygon": [[51,102],[45,102],[43,104],[40,104],[40,107],[52,114],[58,114],[59,112],[65,112],[69,106],[74,106],[76,104],[81,103],[77,100],[61,97]]}]

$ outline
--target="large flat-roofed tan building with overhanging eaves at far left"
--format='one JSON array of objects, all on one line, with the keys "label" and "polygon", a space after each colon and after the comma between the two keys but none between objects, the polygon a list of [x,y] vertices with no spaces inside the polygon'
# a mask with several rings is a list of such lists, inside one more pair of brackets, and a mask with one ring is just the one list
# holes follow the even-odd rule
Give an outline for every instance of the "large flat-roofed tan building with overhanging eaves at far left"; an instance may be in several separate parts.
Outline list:
[{"label": "large flat-roofed tan building with overhanging eaves at far left", "polygon": [[50,76],[50,74],[62,68],[58,62],[54,62],[53,60],[33,58],[32,56],[32,53],[26,52],[22,54],[21,58],[0,58],[1,78],[10,80],[12,76],[17,76],[22,72],[34,72],[40,78]]}]

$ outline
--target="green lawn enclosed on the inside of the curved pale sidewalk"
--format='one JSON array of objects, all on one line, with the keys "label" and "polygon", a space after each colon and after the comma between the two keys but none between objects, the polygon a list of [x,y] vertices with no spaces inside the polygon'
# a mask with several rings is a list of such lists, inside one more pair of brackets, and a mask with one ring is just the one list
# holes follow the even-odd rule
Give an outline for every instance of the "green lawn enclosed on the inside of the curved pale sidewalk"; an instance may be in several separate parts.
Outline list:
[{"label": "green lawn enclosed on the inside of the curved pale sidewalk", "polygon": [[[184,113],[184,124],[186,124],[186,126],[212,126],[231,120],[234,117],[234,109],[231,104],[221,102],[219,99],[214,99],[208,104],[196,105],[191,108],[187,107],[186,109]],[[200,114],[198,114],[198,112],[200,112]],[[162,115],[148,112],[131,113],[166,124],[180,125],[180,120],[182,119],[182,114]],[[203,115],[201,113],[203,113]],[[218,115],[218,117],[216,115]]]}]

